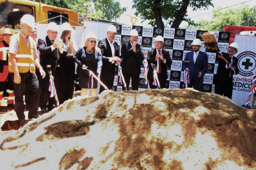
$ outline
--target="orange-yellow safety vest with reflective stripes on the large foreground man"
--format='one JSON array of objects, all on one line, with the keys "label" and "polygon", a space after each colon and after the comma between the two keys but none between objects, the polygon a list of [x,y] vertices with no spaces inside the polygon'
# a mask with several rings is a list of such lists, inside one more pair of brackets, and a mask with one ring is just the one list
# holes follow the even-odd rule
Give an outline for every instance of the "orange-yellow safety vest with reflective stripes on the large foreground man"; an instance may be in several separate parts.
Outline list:
[{"label": "orange-yellow safety vest with reflective stripes on the large foreground man", "polygon": [[[18,41],[18,52],[16,54],[16,63],[19,73],[26,73],[28,71],[35,72],[33,39],[29,37],[29,50],[25,39],[21,34],[15,34],[12,38]],[[9,61],[9,71],[13,72],[12,64]]]}]

